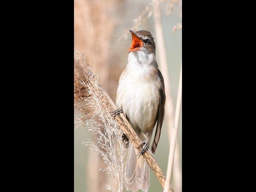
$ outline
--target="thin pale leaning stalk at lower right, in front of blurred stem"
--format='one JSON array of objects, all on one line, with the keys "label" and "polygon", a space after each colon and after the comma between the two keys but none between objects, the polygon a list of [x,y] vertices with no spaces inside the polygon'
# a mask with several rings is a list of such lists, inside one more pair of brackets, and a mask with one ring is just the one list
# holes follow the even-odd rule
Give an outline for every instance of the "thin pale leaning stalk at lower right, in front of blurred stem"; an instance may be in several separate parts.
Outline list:
[{"label": "thin pale leaning stalk at lower right, in front of blurred stem", "polygon": [[171,176],[172,176],[174,151],[175,151],[175,144],[176,144],[176,138],[177,138],[177,133],[178,133],[178,123],[179,123],[179,117],[180,117],[181,100],[182,100],[182,64],[180,66],[180,80],[179,80],[179,86],[178,86],[176,110],[175,110],[175,117],[174,117],[174,126],[172,128],[172,138],[171,138],[171,142],[170,142],[170,151],[169,151],[164,192],[168,192],[168,188],[169,188],[170,180],[171,180]]}]

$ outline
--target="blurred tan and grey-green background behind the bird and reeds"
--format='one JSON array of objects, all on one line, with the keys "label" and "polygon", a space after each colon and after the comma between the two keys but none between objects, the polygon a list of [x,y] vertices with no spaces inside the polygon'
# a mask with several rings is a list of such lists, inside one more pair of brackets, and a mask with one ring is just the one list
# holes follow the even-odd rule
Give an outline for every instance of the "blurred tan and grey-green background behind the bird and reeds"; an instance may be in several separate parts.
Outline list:
[{"label": "blurred tan and grey-green background behind the bird and reeds", "polygon": [[[85,52],[88,63],[99,74],[99,82],[108,92],[112,100],[116,100],[118,79],[127,63],[127,50],[131,45],[128,30],[150,31],[157,41],[155,32],[154,4],[151,0],[74,0],[74,47],[79,52]],[[178,80],[182,62],[182,29],[173,32],[178,23],[182,23],[182,2],[178,0],[160,0],[160,24],[168,64],[170,93],[173,106],[176,106]],[[149,10],[145,8],[149,7]],[[152,12],[150,11],[152,10]],[[140,15],[142,15],[140,20]],[[151,16],[152,14],[152,16]],[[147,16],[150,16],[147,18]],[[134,20],[139,17],[139,20]],[[136,30],[134,30],[136,31]],[[156,58],[160,70],[159,49],[156,43]],[[167,89],[167,87],[166,87]],[[166,106],[168,108],[168,106]],[[174,111],[175,109],[172,109]],[[160,142],[154,157],[160,168],[166,174],[169,152],[168,118],[165,115]],[[178,148],[175,153],[172,182],[175,192],[181,191],[182,173],[182,109],[178,127]],[[82,144],[83,141],[95,142],[94,135],[87,128],[79,127],[74,130],[74,191],[103,192],[105,184],[111,184],[111,179],[105,172],[100,156],[90,152]],[[177,145],[176,145],[177,146]],[[177,159],[178,157],[178,159]],[[151,171],[151,170],[150,170]],[[162,186],[156,176],[150,172],[149,192],[162,191]]]}]

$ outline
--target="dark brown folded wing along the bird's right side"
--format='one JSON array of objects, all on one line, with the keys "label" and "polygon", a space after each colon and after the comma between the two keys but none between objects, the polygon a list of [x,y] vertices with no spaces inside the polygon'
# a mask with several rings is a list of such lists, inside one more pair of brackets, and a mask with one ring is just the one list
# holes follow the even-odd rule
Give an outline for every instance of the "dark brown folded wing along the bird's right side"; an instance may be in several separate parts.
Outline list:
[{"label": "dark brown folded wing along the bird's right side", "polygon": [[161,128],[164,121],[164,104],[165,104],[165,91],[164,91],[164,78],[162,76],[162,73],[158,69],[158,76],[161,81],[161,86],[159,89],[160,95],[159,95],[159,105],[158,105],[158,112],[157,112],[157,124],[156,124],[156,133],[155,138],[151,147],[151,151],[154,154],[156,152],[156,147],[160,138]]}]

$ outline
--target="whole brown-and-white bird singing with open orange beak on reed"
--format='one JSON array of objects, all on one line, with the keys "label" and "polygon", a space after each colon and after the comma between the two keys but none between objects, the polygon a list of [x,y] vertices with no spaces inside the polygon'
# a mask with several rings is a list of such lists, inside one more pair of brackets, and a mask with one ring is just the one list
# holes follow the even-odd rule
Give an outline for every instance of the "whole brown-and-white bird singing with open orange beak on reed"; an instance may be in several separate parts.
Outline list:
[{"label": "whole brown-and-white bird singing with open orange beak on reed", "polygon": [[[148,164],[140,157],[149,149],[156,124],[156,132],[151,151],[154,154],[159,142],[164,120],[164,78],[156,62],[156,46],[149,31],[133,32],[132,45],[128,50],[128,63],[118,82],[116,94],[117,110],[112,114],[123,113],[140,139],[142,151],[129,143],[126,162],[126,190],[141,189],[147,192],[150,187]],[[139,155],[139,156],[138,156]]]}]

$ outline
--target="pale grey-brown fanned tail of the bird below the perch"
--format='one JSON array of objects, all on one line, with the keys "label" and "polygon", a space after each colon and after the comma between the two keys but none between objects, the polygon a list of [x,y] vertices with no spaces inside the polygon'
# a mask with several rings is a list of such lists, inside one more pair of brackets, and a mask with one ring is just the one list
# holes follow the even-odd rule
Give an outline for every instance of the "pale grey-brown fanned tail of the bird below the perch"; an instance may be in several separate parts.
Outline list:
[{"label": "pale grey-brown fanned tail of the bird below the perch", "polygon": [[128,156],[126,162],[126,190],[137,192],[141,189],[147,192],[150,186],[148,164],[142,156],[136,156],[139,151],[129,142]]}]

